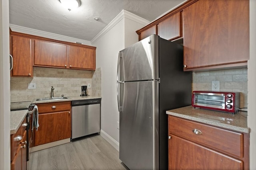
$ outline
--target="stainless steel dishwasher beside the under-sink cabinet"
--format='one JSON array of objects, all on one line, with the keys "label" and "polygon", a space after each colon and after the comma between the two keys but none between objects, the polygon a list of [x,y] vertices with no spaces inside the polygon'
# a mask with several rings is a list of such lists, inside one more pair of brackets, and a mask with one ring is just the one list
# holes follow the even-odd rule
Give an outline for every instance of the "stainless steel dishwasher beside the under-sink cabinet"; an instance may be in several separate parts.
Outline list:
[{"label": "stainless steel dishwasher beside the under-sink cabinet", "polygon": [[101,99],[72,101],[72,141],[100,132]]}]

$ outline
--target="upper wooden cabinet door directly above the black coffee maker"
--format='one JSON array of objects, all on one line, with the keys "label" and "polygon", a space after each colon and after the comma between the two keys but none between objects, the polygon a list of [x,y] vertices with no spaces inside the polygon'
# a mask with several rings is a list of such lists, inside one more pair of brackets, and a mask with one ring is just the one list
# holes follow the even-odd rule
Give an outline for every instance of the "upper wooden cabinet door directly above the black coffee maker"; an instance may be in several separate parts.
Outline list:
[{"label": "upper wooden cabinet door directly above the black coffee maker", "polygon": [[69,67],[95,70],[95,49],[69,46]]}]

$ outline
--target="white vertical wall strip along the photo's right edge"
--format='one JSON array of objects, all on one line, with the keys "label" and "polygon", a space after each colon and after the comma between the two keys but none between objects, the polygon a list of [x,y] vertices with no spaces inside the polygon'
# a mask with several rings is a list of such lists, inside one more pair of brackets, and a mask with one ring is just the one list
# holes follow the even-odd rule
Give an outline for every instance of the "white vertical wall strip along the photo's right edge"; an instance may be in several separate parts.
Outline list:
[{"label": "white vertical wall strip along the photo's right edge", "polygon": [[248,127],[250,127],[250,169],[256,169],[256,1],[250,0],[250,60],[248,64]]}]

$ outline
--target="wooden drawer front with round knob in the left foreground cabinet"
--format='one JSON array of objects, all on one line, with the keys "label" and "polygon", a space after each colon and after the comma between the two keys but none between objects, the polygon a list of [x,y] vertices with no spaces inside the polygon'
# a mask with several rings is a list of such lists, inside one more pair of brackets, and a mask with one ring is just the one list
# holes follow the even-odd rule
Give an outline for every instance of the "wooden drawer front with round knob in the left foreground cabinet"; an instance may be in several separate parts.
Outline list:
[{"label": "wooden drawer front with round knob in the left foreground cabinet", "polygon": [[26,118],[22,121],[18,131],[11,135],[10,142],[11,142],[11,161],[13,160],[20,143],[22,142],[22,136],[24,133],[26,133],[26,126],[24,125],[26,123]]}]

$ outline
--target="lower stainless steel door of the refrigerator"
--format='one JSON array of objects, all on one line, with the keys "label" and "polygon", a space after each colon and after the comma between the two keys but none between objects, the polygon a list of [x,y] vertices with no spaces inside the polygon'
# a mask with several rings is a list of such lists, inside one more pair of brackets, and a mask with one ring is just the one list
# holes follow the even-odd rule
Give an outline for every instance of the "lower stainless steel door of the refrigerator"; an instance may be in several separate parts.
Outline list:
[{"label": "lower stainless steel door of the refrigerator", "polygon": [[119,158],[131,170],[155,169],[158,81],[124,82],[123,87]]}]

